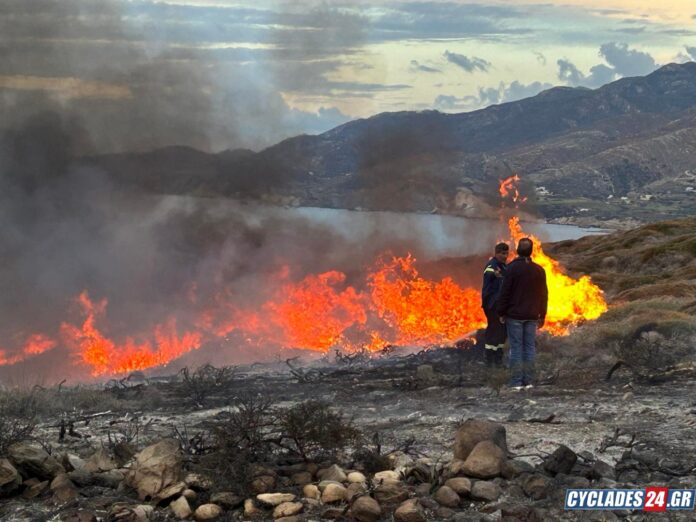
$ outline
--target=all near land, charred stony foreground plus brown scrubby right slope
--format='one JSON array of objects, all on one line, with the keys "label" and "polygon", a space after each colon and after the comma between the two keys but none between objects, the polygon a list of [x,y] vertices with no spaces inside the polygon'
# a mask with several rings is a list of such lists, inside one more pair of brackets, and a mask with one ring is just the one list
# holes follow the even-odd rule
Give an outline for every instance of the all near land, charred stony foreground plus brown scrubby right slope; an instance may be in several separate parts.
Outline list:
[{"label": "all near land, charred stony foreground plus brown scrubby right slope", "polygon": [[473,339],[181,359],[80,386],[22,385],[17,367],[0,392],[0,519],[690,520],[563,500],[569,487],[696,487],[693,230],[689,218],[550,245],[609,309],[540,334],[524,392]]}]

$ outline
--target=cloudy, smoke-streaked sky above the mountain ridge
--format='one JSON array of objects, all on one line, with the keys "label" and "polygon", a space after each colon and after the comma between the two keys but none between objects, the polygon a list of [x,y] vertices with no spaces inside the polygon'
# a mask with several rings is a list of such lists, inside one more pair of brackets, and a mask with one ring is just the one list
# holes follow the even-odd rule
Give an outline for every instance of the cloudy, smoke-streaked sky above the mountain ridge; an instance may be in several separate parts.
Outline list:
[{"label": "cloudy, smoke-streaked sky above the mountain ridge", "polygon": [[692,0],[3,0],[6,128],[85,151],[261,148],[383,111],[469,111],[696,59]]}]

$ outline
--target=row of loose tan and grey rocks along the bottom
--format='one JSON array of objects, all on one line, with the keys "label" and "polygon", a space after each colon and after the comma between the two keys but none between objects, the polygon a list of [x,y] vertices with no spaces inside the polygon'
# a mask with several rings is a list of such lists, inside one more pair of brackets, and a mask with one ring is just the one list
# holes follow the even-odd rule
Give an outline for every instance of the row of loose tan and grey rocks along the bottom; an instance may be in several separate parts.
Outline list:
[{"label": "row of loose tan and grey rocks along the bottom", "polygon": [[[469,420],[457,430],[454,459],[442,464],[393,456],[393,469],[367,473],[336,463],[252,466],[249,496],[217,490],[210,477],[185,473],[176,441],[165,439],[119,465],[104,449],[85,460],[49,455],[40,446],[12,446],[0,459],[0,498],[48,498],[75,505],[110,488],[132,502],[105,498],[108,520],[550,520],[566,487],[612,487],[617,471],[608,463],[559,446],[532,465],[510,459],[505,428]],[[358,466],[359,467],[359,466]],[[136,500],[137,498],[137,500]],[[159,517],[159,518],[158,518]],[[78,509],[66,520],[92,522]]]}]

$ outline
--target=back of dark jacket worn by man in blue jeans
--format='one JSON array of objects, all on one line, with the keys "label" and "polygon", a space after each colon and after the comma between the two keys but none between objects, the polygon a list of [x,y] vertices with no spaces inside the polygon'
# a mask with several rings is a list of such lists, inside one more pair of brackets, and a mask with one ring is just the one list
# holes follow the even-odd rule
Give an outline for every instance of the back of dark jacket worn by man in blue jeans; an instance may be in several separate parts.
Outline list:
[{"label": "back of dark jacket worn by man in blue jeans", "polygon": [[546,317],[548,289],[546,272],[529,257],[518,257],[505,271],[498,298],[498,314],[520,321]]}]

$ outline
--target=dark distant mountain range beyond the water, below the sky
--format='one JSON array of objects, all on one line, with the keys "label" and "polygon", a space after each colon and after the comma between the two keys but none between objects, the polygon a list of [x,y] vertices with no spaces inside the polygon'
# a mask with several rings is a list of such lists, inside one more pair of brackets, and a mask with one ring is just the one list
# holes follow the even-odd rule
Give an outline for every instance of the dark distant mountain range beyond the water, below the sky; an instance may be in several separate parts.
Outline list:
[{"label": "dark distant mountain range beyond the water, below the sky", "polygon": [[384,113],[258,153],[172,147],[85,160],[165,193],[480,215],[512,171],[548,218],[696,213],[696,63],[463,114]]}]

